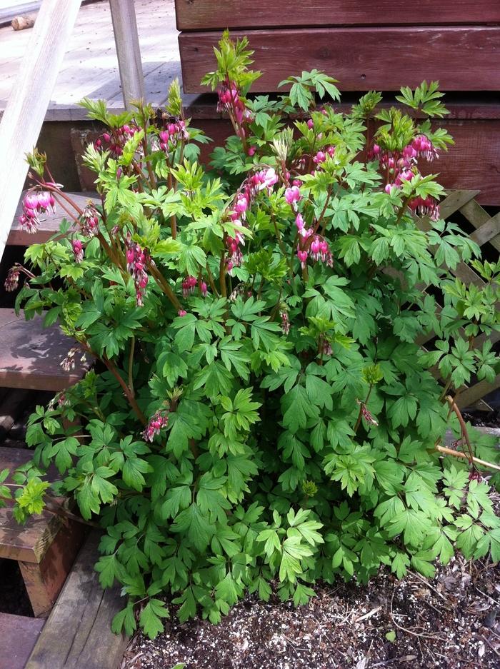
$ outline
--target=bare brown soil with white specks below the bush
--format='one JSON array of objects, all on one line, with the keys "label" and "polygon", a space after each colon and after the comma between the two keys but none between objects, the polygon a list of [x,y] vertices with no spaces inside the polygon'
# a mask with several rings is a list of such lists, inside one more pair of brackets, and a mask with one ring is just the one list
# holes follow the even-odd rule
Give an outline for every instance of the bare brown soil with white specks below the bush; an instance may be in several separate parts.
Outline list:
[{"label": "bare brown soil with white specks below the bush", "polygon": [[249,596],[219,625],[166,620],[137,634],[121,669],[500,668],[500,570],[452,558],[433,580],[386,570],[369,585],[316,586],[309,604]]}]

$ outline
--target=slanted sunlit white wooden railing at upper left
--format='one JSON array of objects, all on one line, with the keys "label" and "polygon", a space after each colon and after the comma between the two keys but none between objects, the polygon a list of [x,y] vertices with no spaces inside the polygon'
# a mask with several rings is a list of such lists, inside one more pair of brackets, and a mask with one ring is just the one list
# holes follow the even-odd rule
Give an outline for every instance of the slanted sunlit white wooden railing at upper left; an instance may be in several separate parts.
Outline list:
[{"label": "slanted sunlit white wooden railing at upper left", "polygon": [[0,123],[0,260],[81,0],[44,0]]}]

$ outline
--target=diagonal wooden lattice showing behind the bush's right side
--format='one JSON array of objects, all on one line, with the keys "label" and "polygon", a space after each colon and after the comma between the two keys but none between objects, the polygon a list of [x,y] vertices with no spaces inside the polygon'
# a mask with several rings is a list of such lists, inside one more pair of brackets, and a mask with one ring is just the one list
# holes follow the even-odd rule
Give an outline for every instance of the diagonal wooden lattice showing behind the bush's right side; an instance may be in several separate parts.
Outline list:
[{"label": "diagonal wooden lattice showing behind the bush's right side", "polygon": [[[448,219],[451,218],[454,213],[459,211],[475,228],[474,232],[470,235],[471,239],[479,244],[479,246],[491,244],[495,251],[499,252],[500,212],[496,213],[494,216],[490,216],[489,213],[474,199],[480,192],[481,191],[453,191],[441,203],[441,216],[442,218]],[[422,219],[419,223],[419,227],[421,227],[421,229],[429,229],[429,224]],[[464,281],[464,283],[475,283],[476,286],[484,286],[483,279],[473,268],[465,263],[459,263],[453,273],[461,279],[461,281]],[[419,338],[419,343],[424,346],[424,344],[432,338],[434,338],[434,334],[430,333],[425,337]],[[476,343],[480,345],[485,338],[485,336],[478,337]],[[493,343],[496,343],[500,339],[500,332],[491,333],[489,339]],[[437,371],[436,376],[439,376],[439,372]],[[482,411],[491,411],[491,406],[489,406],[483,398],[499,387],[500,374],[496,376],[492,383],[489,383],[488,381],[477,381],[474,385],[461,391],[456,403],[459,408],[473,406]]]}]

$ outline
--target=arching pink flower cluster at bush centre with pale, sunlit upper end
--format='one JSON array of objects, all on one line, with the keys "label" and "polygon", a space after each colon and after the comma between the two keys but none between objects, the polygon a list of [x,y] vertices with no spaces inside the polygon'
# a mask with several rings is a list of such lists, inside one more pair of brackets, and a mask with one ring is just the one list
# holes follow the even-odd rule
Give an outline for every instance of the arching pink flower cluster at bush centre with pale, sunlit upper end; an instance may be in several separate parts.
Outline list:
[{"label": "arching pink flower cluster at bush centre with pale, sunlit upper end", "polygon": [[[231,211],[229,211],[229,218],[236,228],[243,227],[242,221],[246,220],[246,211],[251,207],[251,203],[256,198],[257,193],[267,189],[267,192],[270,194],[277,181],[278,176],[272,167],[261,169],[246,178],[244,183],[241,184],[239,192],[236,193],[233,206]],[[236,230],[234,237],[226,237],[226,247],[229,256],[226,264],[229,272],[234,267],[241,265],[241,261],[243,260],[241,246],[245,246],[245,238],[242,233]]]}]

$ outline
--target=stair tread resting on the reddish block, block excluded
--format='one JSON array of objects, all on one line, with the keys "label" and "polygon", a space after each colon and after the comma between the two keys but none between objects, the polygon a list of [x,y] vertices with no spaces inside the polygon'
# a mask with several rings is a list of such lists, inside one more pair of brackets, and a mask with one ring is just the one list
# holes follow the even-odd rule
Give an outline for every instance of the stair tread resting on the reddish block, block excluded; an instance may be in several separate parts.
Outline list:
[{"label": "stair tread resting on the reddish block, block excluded", "polygon": [[[0,446],[0,471],[13,471],[33,458],[27,448],[4,448]],[[56,468],[49,468],[46,480],[54,481],[59,476]],[[11,481],[7,478],[6,483]],[[12,515],[11,507],[0,508],[0,558],[39,563],[61,527],[61,519],[49,513],[32,515],[24,525],[19,525]],[[1,655],[0,655],[1,657]]]}]

